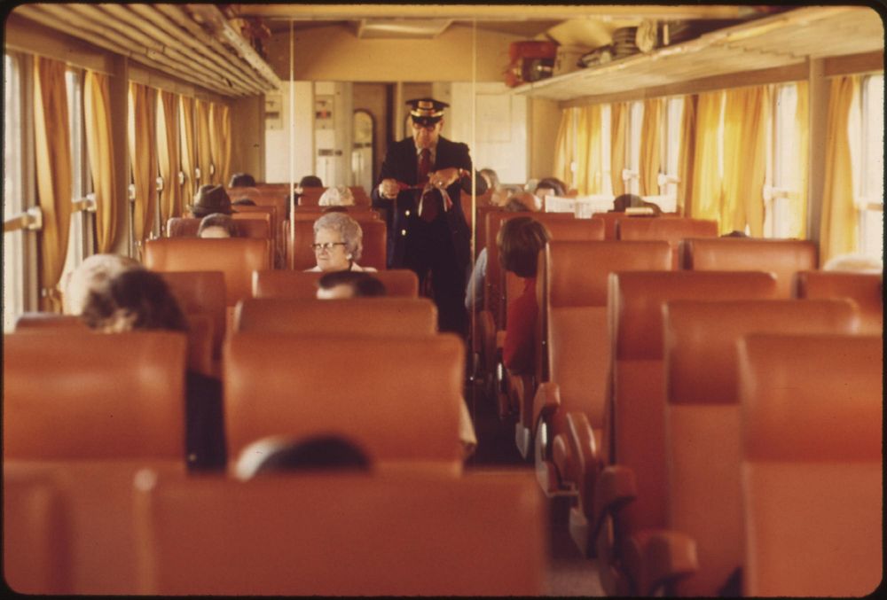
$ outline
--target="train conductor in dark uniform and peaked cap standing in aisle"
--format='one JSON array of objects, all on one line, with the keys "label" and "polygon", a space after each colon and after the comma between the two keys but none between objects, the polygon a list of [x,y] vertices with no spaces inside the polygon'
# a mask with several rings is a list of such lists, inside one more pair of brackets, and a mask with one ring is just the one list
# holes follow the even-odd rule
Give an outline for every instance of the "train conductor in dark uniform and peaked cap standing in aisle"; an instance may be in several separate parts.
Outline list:
[{"label": "train conductor in dark uniform and peaked cap standing in aisle", "polygon": [[[407,104],[412,137],[389,145],[373,207],[385,209],[389,269],[412,269],[420,289],[430,275],[438,329],[464,336],[471,232],[459,196],[471,193],[471,156],[467,144],[440,135],[445,102],[423,97]],[[480,176],[475,186],[477,194],[487,189]]]}]

